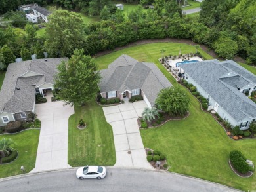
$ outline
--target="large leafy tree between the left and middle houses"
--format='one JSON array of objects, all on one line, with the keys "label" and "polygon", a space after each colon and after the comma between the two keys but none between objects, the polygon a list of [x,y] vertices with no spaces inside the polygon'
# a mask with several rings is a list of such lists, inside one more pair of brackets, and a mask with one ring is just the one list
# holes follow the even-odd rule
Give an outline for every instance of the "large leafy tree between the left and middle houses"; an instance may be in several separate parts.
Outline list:
[{"label": "large leafy tree between the left and middle houses", "polygon": [[74,50],[68,62],[58,66],[55,89],[67,104],[84,104],[98,91],[100,73],[94,58],[83,54],[83,49]]}]

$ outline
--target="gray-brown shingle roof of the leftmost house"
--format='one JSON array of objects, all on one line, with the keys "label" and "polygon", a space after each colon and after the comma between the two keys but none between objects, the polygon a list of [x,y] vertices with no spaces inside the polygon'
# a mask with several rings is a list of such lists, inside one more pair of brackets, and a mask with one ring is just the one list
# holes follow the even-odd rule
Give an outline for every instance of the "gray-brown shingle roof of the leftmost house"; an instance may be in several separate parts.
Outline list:
[{"label": "gray-brown shingle roof of the leftmost house", "polygon": [[[16,113],[32,110],[35,86],[43,83],[54,84],[56,67],[62,60],[68,60],[68,58],[49,58],[47,61],[41,59],[9,64],[0,91],[0,112]],[[38,75],[21,77],[27,72],[38,73]]]}]

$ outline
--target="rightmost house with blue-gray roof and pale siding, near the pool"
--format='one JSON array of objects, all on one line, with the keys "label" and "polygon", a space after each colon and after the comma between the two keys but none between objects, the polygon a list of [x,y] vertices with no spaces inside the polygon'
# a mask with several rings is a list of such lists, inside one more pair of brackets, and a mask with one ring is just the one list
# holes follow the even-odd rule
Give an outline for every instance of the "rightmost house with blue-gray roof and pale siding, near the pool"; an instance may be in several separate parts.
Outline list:
[{"label": "rightmost house with blue-gray roof and pale siding, near the pool", "polygon": [[256,104],[248,98],[256,90],[256,76],[236,62],[207,60],[182,64],[184,79],[209,101],[208,110],[241,130],[256,119]]}]

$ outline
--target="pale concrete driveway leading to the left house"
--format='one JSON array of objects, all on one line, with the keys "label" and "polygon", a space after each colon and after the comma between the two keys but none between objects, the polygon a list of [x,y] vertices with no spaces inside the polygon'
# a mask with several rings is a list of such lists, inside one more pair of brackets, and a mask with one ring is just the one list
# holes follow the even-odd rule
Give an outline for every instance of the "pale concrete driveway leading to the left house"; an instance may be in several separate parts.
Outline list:
[{"label": "pale concrete driveway leading to the left house", "polygon": [[35,105],[42,124],[35,168],[31,172],[71,167],[68,165],[68,118],[74,113],[74,107],[51,102],[51,96],[47,93],[47,103]]}]

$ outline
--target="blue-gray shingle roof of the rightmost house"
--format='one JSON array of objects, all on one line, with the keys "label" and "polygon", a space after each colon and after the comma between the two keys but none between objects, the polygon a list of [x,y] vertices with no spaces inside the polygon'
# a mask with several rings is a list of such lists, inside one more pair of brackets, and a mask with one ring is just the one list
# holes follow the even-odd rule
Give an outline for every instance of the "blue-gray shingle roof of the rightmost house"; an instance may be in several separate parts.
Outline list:
[{"label": "blue-gray shingle roof of the rightmost house", "polygon": [[[226,64],[228,64],[228,67],[226,67]],[[226,77],[231,79],[220,78],[227,73],[233,72],[233,70],[230,70],[230,66],[234,66],[234,64],[227,61],[219,62],[218,60],[208,60],[183,64],[181,68],[236,121],[239,122],[248,116],[256,117],[256,104],[237,88],[232,86],[232,79],[235,80],[234,84],[242,86],[245,81],[248,80],[242,75],[247,74],[249,78],[251,75],[248,75],[249,73],[247,73],[245,69],[239,71],[240,67],[235,67],[235,73],[240,75],[240,77]],[[255,75],[252,77],[253,80]],[[249,111],[247,109],[249,109]]]}]

